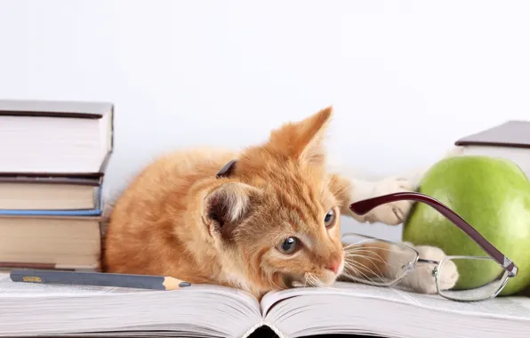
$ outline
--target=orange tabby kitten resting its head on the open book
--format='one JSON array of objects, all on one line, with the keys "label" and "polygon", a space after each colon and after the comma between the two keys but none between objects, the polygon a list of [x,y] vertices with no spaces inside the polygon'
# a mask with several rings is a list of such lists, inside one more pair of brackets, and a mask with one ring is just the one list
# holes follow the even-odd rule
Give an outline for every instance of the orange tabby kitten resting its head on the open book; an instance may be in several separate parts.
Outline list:
[{"label": "orange tabby kitten resting its head on the open book", "polygon": [[[258,298],[296,285],[333,284],[345,270],[341,214],[395,225],[411,207],[400,201],[358,216],[349,204],[413,187],[328,173],[323,136],[331,116],[327,108],[282,125],[267,142],[240,153],[192,149],[148,165],[108,216],[103,270],[231,286]],[[227,165],[232,159],[237,162]],[[223,166],[227,173],[216,177]],[[429,246],[418,250],[426,259],[444,256]],[[380,254],[384,270],[394,257]],[[428,269],[418,267],[404,284],[436,292]],[[454,284],[454,275],[445,278]]]}]

